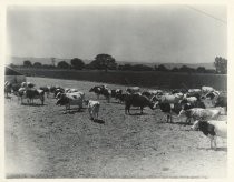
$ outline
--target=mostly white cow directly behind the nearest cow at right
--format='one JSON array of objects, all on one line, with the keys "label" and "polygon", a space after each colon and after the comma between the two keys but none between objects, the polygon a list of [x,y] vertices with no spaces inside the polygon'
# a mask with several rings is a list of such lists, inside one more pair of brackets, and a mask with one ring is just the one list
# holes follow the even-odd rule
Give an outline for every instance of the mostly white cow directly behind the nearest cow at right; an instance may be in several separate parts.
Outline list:
[{"label": "mostly white cow directly behind the nearest cow at right", "polygon": [[203,109],[203,108],[193,108],[188,110],[182,110],[178,114],[178,117],[185,115],[186,122],[191,123],[191,120],[199,120],[199,121],[207,121],[217,119],[221,114],[221,110],[218,109]]}]

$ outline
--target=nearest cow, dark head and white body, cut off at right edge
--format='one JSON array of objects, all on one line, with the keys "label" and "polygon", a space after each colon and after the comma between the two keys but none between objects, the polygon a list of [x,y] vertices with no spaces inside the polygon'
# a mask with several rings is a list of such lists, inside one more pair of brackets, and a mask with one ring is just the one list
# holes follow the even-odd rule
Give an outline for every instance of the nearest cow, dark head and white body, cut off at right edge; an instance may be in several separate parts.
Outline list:
[{"label": "nearest cow, dark head and white body, cut off at right edge", "polygon": [[216,149],[217,142],[216,138],[221,136],[226,139],[227,136],[227,123],[226,121],[216,121],[216,120],[209,120],[209,121],[195,121],[192,130],[199,130],[211,139],[211,149],[213,149],[213,143],[214,148]]}]

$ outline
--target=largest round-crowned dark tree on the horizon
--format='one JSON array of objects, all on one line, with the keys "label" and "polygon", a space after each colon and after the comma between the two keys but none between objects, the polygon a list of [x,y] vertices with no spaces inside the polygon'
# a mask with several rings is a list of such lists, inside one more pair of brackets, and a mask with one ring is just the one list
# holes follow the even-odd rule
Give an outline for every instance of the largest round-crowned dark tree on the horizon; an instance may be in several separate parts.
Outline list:
[{"label": "largest round-crowned dark tree on the horizon", "polygon": [[117,63],[115,59],[109,54],[98,54],[95,60],[90,63],[91,67],[98,70],[116,70]]}]

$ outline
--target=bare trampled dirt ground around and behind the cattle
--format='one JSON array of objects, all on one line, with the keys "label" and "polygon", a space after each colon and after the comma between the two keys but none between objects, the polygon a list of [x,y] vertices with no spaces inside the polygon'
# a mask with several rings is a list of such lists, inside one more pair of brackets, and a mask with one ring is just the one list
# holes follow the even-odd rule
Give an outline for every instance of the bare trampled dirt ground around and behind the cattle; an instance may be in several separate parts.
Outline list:
[{"label": "bare trampled dirt ground around and behind the cattle", "polygon": [[[61,85],[84,91],[99,83],[27,78],[40,85]],[[107,84],[110,89],[123,88]],[[25,101],[26,102],[26,101]],[[36,103],[40,103],[39,100]],[[89,120],[87,109],[72,108],[64,114],[50,95],[45,105],[21,105],[4,100],[7,178],[225,178],[226,140],[209,140],[184,119],[166,123],[159,110],[133,109],[100,98],[99,122]],[[223,117],[225,119],[225,117]]]}]

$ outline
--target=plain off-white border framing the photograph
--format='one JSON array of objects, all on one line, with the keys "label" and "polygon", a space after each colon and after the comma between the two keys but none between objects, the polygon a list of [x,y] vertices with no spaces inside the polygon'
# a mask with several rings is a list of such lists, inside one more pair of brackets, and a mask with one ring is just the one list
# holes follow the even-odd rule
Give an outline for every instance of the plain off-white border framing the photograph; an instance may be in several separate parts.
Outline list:
[{"label": "plain off-white border framing the photograph", "polygon": [[[225,179],[6,179],[4,176],[4,60],[7,50],[6,13],[8,6],[116,6],[116,4],[223,4],[227,7],[227,93],[228,93],[228,134],[227,134],[227,178]],[[1,122],[0,122],[0,181],[234,181],[234,1],[233,0],[0,0],[0,90],[1,90]]]}]

